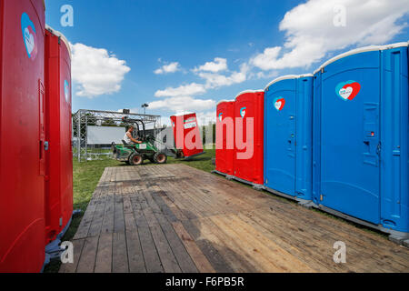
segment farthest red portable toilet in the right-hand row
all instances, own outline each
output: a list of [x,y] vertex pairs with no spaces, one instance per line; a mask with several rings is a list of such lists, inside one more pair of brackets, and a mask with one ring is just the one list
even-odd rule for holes
[[234,175],[234,100],[217,105],[215,173]]

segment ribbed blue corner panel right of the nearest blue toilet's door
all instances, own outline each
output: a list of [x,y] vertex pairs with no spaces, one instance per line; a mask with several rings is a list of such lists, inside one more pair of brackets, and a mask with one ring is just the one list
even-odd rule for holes
[[[381,58],[381,222],[409,238],[408,47],[386,45]],[[395,234],[396,235],[396,234]]]

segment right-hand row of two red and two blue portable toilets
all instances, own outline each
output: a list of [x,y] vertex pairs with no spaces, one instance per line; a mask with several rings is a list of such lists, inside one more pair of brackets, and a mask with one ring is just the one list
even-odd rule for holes
[[220,102],[216,172],[408,239],[408,107],[408,44],[355,49]]

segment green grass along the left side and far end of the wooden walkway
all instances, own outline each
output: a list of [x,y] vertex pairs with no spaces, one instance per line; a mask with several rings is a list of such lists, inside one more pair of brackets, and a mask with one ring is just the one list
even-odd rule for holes
[[[176,160],[173,157],[169,157],[167,164],[185,164],[188,166],[193,166],[197,169],[203,170],[205,172],[211,172],[214,170],[214,165],[212,164],[212,158],[215,157],[214,149],[205,149],[205,154],[202,156],[196,156],[191,161]],[[145,161],[143,166],[151,165],[149,161]],[[104,169],[107,166],[127,166],[125,163],[115,161],[114,159],[103,159],[100,161],[89,161],[79,163],[74,160],[74,209],[82,210],[81,215],[73,217],[70,228],[68,228],[63,241],[69,241],[75,236],[76,229],[78,228],[81,219],[84,216],[86,207],[93,196],[96,185],[99,182]],[[58,272],[61,263],[59,260],[51,262],[45,267],[45,273],[55,273]]]

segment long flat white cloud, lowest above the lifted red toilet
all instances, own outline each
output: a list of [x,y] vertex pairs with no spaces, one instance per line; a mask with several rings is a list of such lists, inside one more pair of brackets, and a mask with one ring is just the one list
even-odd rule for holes
[[152,110],[162,109],[174,112],[208,110],[214,107],[215,101],[212,99],[195,99],[191,96],[171,97],[149,104],[149,108]]

